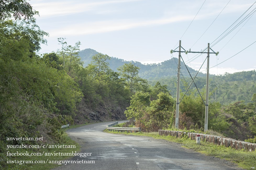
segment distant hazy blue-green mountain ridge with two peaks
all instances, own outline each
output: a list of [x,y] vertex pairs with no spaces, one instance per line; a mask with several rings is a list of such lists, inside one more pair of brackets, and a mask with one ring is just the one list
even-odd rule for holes
[[[91,63],[92,56],[94,56],[95,54],[98,54],[98,52],[90,48],[87,48],[79,52],[79,56],[81,57],[81,60],[84,62],[84,67]],[[108,62],[109,67],[114,71],[117,71],[117,68],[121,65],[124,65],[125,63],[133,63],[136,66],[140,67],[139,76],[147,80],[156,80],[158,78],[177,76],[177,58],[171,58],[158,64],[142,64],[137,61],[126,61],[116,57],[111,57],[111,59]],[[194,77],[197,71],[188,66],[187,68],[190,71],[190,73],[194,73],[192,74],[192,77]],[[181,70],[184,70],[182,72],[185,73],[183,76],[189,76],[187,74],[188,72],[186,66],[183,62],[181,62]],[[205,74],[199,72],[197,76],[202,77],[205,76]]]

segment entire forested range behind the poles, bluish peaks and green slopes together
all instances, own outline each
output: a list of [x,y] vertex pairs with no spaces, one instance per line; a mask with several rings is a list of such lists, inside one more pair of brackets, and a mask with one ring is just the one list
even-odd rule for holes
[[[97,54],[98,52],[92,50],[90,48],[79,51],[79,55],[81,60],[84,61],[84,66],[87,66],[92,61],[92,56]],[[170,91],[172,96],[176,95],[177,90],[177,58],[171,58],[170,60],[166,60],[164,62],[158,64],[147,64],[144,65],[140,62],[136,61],[125,61],[123,59],[110,57],[109,59],[109,67],[118,71],[117,68],[123,64],[132,63],[138,67],[140,67],[139,76],[148,80],[148,84],[154,86],[158,81],[161,84],[167,85],[167,89]],[[183,62],[182,62],[183,63]],[[181,91],[185,92],[190,85],[192,79],[186,74],[188,73],[184,64],[181,64]],[[188,67],[188,70],[192,74],[192,77],[196,74],[196,70]],[[234,74],[224,74],[224,75],[211,75],[210,76],[210,91],[211,96],[210,100],[215,100],[215,90],[216,90],[216,101],[221,104],[230,104],[236,101],[245,101],[246,103],[251,102],[252,94],[256,93],[255,81],[255,71],[243,71]],[[203,91],[206,85],[206,75],[199,73],[194,80],[196,86]],[[215,84],[216,82],[216,84]],[[190,89],[196,88],[194,83],[192,83]],[[239,90],[234,90],[239,89]],[[189,90],[189,91],[191,91]]]

